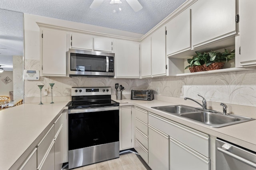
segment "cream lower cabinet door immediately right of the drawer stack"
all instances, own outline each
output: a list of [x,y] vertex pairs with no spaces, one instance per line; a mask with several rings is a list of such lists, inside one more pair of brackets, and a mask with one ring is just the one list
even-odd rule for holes
[[152,170],[169,170],[169,136],[151,125],[148,125],[148,165]]

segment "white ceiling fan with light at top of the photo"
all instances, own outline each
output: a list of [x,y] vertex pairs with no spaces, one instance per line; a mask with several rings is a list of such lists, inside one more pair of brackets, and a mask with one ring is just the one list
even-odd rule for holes
[[[90,8],[96,9],[102,4],[103,0],[94,0],[92,4],[90,5]],[[143,7],[141,6],[140,2],[138,0],[126,0],[126,2],[132,7],[134,12],[138,12]],[[111,0],[110,4],[120,4],[122,3],[120,0]]]

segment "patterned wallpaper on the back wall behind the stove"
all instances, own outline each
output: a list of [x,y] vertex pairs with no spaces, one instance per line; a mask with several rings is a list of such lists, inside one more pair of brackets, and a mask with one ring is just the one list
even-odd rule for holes
[[[25,60],[25,69],[40,70],[40,61]],[[115,78],[87,78],[87,77],[40,77],[39,81],[25,81],[25,97],[40,96],[37,85],[44,85],[50,91],[49,83],[55,83],[52,88],[53,96],[71,96],[71,87],[77,86],[110,86],[112,94],[116,94],[115,84],[124,86],[123,94],[130,94],[132,89],[147,89],[150,80],[140,79],[115,79]],[[43,89],[44,90],[44,89]],[[43,91],[42,90],[42,91]],[[43,94],[43,93],[42,93]],[[51,95],[51,94],[49,94]],[[48,95],[48,96],[49,96]]]

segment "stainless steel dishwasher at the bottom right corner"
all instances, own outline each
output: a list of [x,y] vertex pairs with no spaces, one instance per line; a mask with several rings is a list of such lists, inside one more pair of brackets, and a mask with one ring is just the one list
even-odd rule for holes
[[256,153],[216,139],[216,170],[256,170]]

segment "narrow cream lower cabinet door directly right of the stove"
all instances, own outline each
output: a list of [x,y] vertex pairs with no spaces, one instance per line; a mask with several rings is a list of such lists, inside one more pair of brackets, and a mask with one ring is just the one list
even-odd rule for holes
[[132,106],[121,107],[122,116],[122,147],[121,150],[132,148]]

